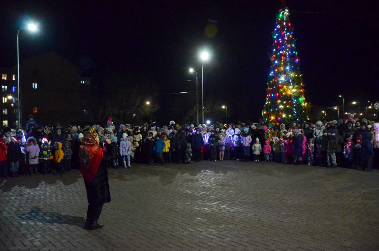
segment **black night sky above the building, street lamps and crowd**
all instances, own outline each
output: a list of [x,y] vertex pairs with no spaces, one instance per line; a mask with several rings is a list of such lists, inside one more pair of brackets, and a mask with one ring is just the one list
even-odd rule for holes
[[[333,106],[342,101],[340,94],[345,105],[379,101],[378,3],[287,1],[307,102]],[[280,8],[277,0],[2,1],[0,66],[17,64],[17,29],[36,20],[38,33],[20,34],[20,60],[54,51],[93,77],[149,76],[161,85],[160,96],[170,99],[167,93],[194,91],[193,82],[185,82],[194,80],[188,68],[201,76],[199,51],[207,48],[204,99],[222,100],[230,120],[255,122],[265,101],[271,32]],[[218,28],[213,38],[205,35],[209,24]],[[160,106],[165,119],[175,120],[161,98]]]

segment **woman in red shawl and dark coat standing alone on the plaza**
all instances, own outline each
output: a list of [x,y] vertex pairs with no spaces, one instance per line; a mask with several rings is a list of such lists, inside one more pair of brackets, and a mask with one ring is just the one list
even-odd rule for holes
[[99,145],[99,136],[94,129],[85,133],[80,146],[80,171],[87,191],[88,209],[85,229],[93,230],[103,227],[99,219],[103,204],[111,201],[108,183],[108,163],[114,155],[114,147],[109,139],[104,148]]

